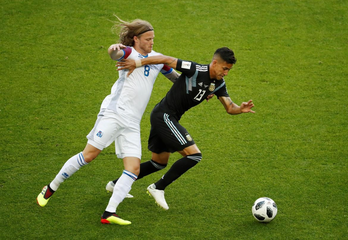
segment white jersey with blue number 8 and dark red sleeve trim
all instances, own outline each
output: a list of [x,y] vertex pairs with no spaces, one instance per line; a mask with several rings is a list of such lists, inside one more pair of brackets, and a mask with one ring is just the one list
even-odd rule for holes
[[[160,55],[160,53],[151,51],[147,56],[142,56],[133,47],[127,47],[122,50],[124,55],[120,59],[129,58],[135,60]],[[161,72],[166,75],[171,73],[173,69],[163,64],[144,65],[135,68],[127,77],[128,71],[128,69],[119,71],[119,78],[113,84],[111,94],[104,99],[101,109],[110,109],[140,122],[149,102],[158,73]]]

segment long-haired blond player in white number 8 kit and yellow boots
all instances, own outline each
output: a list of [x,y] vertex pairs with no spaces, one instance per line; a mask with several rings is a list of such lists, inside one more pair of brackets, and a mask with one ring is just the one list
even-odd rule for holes
[[[152,50],[154,32],[150,23],[140,19],[132,22],[121,19],[119,21],[120,23],[114,27],[120,27],[120,43],[113,44],[108,49],[113,60],[136,60],[159,55]],[[179,76],[172,68],[163,64],[142,66],[135,69],[129,77],[128,70],[119,71],[119,78],[112,86],[111,94],[103,100],[96,123],[87,135],[85,149],[66,161],[54,180],[42,189],[37,197],[41,207],[47,204],[65,179],[68,179],[80,167],[92,162],[114,141],[116,155],[123,159],[125,169],[113,188],[109,204],[101,217],[101,223],[121,225],[131,223],[121,219],[116,214],[116,208],[126,197],[139,175],[140,121],[159,72],[171,81]]]

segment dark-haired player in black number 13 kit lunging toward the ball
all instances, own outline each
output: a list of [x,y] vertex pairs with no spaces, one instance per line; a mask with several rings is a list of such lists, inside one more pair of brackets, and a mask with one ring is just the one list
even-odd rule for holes
[[[183,156],[160,180],[147,188],[157,204],[164,209],[169,208],[164,198],[164,189],[202,159],[202,154],[192,136],[179,123],[185,111],[215,94],[228,114],[255,113],[251,110],[254,107],[252,100],[242,102],[238,106],[232,102],[227,93],[223,77],[228,74],[236,61],[234,52],[223,47],[215,51],[210,64],[198,64],[163,55],[135,61],[125,60],[116,65],[119,67],[118,70],[129,69],[128,75],[136,67],[152,64],[166,64],[182,72],[166,96],[151,112],[148,149],[152,152],[152,158],[140,164],[138,176],[140,179],[165,168],[172,152],[177,151]],[[113,182],[116,181],[117,179]]]

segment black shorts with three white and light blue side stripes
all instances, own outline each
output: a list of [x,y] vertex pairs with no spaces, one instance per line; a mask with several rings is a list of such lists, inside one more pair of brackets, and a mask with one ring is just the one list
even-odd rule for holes
[[151,152],[176,152],[195,144],[187,130],[166,113],[151,112],[148,149]]

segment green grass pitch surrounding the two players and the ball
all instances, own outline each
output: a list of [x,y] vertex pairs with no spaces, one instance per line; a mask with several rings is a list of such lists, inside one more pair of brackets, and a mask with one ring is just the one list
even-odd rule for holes
[[[82,151],[118,73],[107,48],[113,13],[148,20],[154,50],[209,63],[234,50],[231,99],[256,114],[230,116],[216,98],[181,119],[202,161],[166,189],[169,210],[146,194],[165,170],[133,184],[102,225],[122,160],[113,144],[65,181],[45,208],[36,197]],[[347,1],[2,1],[0,6],[1,239],[347,239]],[[160,74],[143,115],[171,82]],[[173,154],[166,169],[180,156]],[[278,215],[258,223],[253,202]]]

